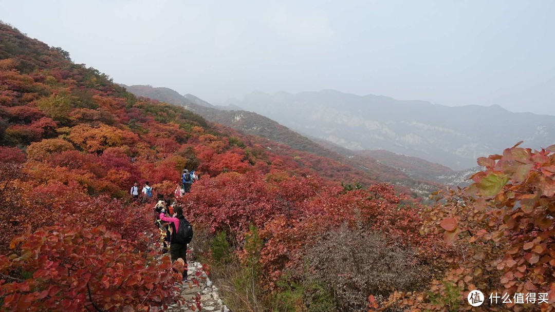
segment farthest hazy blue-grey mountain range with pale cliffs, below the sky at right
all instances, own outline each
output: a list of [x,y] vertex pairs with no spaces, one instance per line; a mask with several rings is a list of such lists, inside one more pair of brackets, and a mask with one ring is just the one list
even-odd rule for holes
[[387,150],[459,170],[523,140],[538,149],[555,142],[555,116],[501,106],[443,106],[334,90],[274,95],[255,91],[226,101],[268,116],[301,134],[351,150]]

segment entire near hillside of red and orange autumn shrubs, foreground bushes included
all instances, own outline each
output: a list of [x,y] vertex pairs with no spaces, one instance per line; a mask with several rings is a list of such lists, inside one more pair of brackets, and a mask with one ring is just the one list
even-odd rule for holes
[[172,198],[195,229],[190,256],[233,311],[456,311],[476,288],[546,299],[486,310],[554,308],[555,145],[481,157],[470,187],[423,206],[352,166],[137,98],[3,23],[0,116],[3,311],[201,309],[176,287],[183,264],[160,255],[154,202],[129,195],[149,181],[173,197],[183,168],[201,173]]

